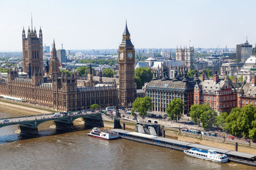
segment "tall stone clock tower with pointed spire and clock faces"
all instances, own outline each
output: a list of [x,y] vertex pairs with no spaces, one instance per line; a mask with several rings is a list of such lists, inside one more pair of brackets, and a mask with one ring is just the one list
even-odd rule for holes
[[135,100],[134,63],[135,50],[130,39],[130,33],[125,24],[122,43],[118,48],[119,91],[118,98],[121,106],[131,106]]

